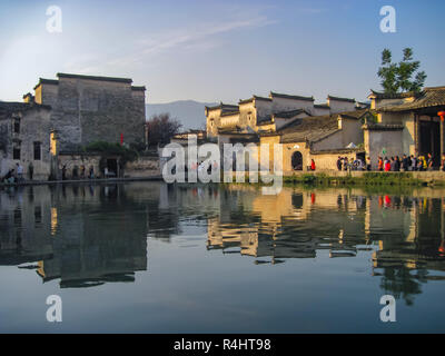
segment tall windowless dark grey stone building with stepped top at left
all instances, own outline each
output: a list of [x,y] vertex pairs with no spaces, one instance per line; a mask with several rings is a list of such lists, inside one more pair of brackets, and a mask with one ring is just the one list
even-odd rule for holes
[[145,87],[128,78],[58,73],[57,80],[40,78],[34,97],[26,100],[48,105],[51,129],[60,150],[77,150],[93,141],[144,142]]

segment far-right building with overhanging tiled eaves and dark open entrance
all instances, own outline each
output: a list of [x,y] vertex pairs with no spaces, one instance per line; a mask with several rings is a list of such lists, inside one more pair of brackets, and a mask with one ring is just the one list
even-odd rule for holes
[[365,149],[372,157],[432,154],[436,167],[445,154],[445,87],[425,88],[421,92],[368,96],[377,112],[374,122],[364,126]]

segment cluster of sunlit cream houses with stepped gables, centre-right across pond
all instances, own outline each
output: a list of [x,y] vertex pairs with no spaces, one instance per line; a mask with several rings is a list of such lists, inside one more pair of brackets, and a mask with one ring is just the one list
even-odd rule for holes
[[[207,136],[220,147],[267,144],[269,167],[274,145],[281,144],[283,160],[275,167],[285,175],[307,170],[312,159],[317,169],[337,169],[338,155],[350,159],[364,156],[362,126],[370,115],[368,106],[334,96],[328,96],[326,103],[314,101],[314,97],[270,92],[268,98],[253,96],[238,106],[206,107]],[[259,156],[258,150],[258,161]]]

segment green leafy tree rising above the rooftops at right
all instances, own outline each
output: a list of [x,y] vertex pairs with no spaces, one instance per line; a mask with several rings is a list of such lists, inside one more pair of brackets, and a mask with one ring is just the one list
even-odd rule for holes
[[[382,78],[380,85],[386,93],[399,91],[421,91],[425,79],[425,71],[417,71],[421,61],[413,60],[413,49],[403,50],[403,60],[393,63],[392,52],[385,48],[382,52],[382,67],[378,68],[378,77]],[[417,71],[417,73],[415,73]],[[414,79],[412,79],[414,76]]]

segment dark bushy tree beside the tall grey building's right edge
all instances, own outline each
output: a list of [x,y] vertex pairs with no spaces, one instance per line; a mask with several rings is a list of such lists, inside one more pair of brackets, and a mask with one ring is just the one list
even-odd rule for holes
[[169,112],[154,115],[147,121],[148,146],[165,145],[179,132],[182,125],[170,117]]

